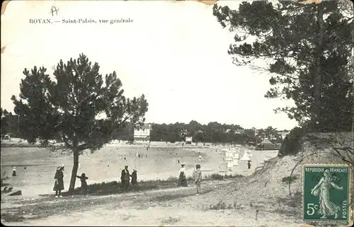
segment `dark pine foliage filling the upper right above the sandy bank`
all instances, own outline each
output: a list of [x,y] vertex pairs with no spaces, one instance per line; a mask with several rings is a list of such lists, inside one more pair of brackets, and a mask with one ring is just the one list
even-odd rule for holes
[[295,101],[278,111],[316,131],[350,131],[353,8],[344,7],[343,1],[253,1],[238,10],[215,4],[213,15],[235,33],[228,50],[234,64],[270,74],[265,97]]

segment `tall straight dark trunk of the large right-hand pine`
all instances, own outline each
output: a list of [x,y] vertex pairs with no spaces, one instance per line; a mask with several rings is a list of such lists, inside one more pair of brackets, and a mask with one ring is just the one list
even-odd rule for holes
[[[321,115],[321,60],[323,50],[323,37],[324,37],[324,6],[319,3],[317,5],[317,25],[319,26],[318,42],[314,60],[316,61],[316,70],[314,74],[314,101],[312,103],[312,116],[313,123],[319,122]],[[317,129],[317,128],[316,128]]]

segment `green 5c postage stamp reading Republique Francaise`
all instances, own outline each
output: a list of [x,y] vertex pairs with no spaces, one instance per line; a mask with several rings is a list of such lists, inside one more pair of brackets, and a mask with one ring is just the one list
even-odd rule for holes
[[304,221],[350,222],[350,168],[348,165],[303,166]]

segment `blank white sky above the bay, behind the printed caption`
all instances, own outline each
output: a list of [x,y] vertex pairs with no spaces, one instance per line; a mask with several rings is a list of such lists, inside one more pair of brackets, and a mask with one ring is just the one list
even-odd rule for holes
[[[235,8],[240,1],[219,4]],[[59,8],[52,16],[52,6]],[[18,12],[21,12],[19,16]],[[31,24],[30,18],[130,18],[132,23]],[[101,74],[116,71],[125,96],[144,94],[146,122],[196,120],[244,128],[297,126],[276,107],[292,102],[264,98],[267,74],[232,64],[233,34],[217,23],[212,6],[196,1],[11,1],[1,16],[1,107],[13,111],[23,69],[52,66],[84,53]]]

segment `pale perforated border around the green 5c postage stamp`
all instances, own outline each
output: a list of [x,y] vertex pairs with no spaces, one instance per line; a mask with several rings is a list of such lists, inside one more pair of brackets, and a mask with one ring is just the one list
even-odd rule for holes
[[309,223],[314,223],[314,222],[319,222],[319,223],[328,223],[328,224],[338,224],[338,223],[343,223],[344,221],[325,221],[325,220],[314,220],[314,221],[308,221],[304,220],[304,169],[305,167],[311,167],[311,166],[326,166],[326,167],[348,167],[349,173],[348,173],[348,223],[346,226],[353,226],[353,210],[351,208],[353,198],[352,198],[352,193],[351,193],[351,186],[352,186],[352,171],[353,171],[353,166],[348,165],[348,164],[338,164],[338,163],[303,163],[302,165],[302,170],[301,170],[301,190],[302,190],[302,199],[301,199],[301,213],[302,213],[302,221],[304,221],[305,224],[309,225]]

